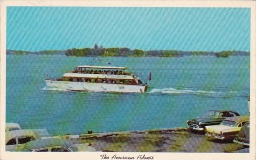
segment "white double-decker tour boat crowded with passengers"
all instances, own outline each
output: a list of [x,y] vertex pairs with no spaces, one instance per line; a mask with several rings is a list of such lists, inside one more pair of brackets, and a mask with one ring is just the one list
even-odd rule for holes
[[79,65],[61,78],[45,82],[49,87],[74,91],[144,93],[147,90],[147,83],[128,73],[125,67]]

